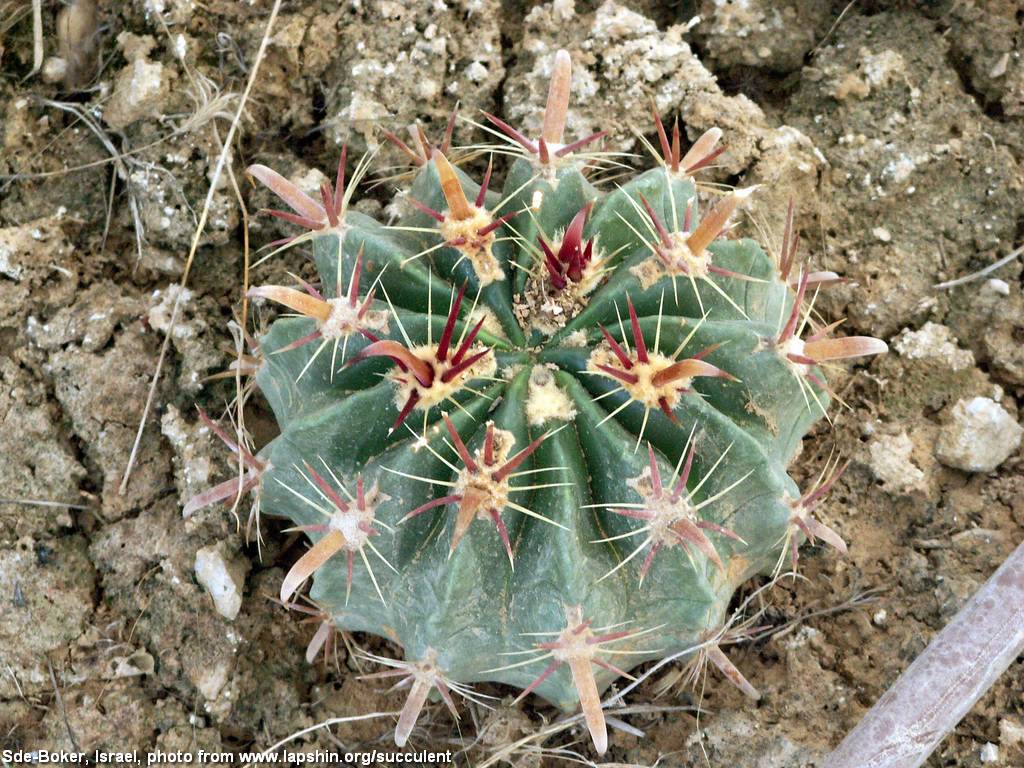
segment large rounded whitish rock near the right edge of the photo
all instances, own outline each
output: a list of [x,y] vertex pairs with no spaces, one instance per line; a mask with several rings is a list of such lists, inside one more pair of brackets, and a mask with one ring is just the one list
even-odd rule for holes
[[991,472],[1020,447],[1024,429],[995,400],[957,400],[951,416],[935,450],[938,460],[948,467]]

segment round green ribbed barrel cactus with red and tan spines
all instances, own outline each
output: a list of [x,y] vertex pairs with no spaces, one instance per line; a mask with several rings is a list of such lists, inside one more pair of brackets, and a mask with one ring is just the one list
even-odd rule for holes
[[450,162],[454,122],[438,147],[387,134],[415,167],[392,224],[350,205],[368,159],[319,200],[249,168],[319,284],[251,291],[292,312],[259,340],[281,434],[254,456],[220,432],[244,472],[190,508],[252,490],[308,536],[280,597],[311,578],[315,615],[401,647],[371,676],[409,688],[399,745],[428,696],[458,717],[494,681],[582,708],[603,753],[600,692],[701,643],[756,697],[714,642],[733,592],[805,538],[845,550],[813,516],[835,475],[802,494],[786,468],[822,364],[886,345],[814,319],[837,275],[796,268],[792,206],[777,253],[724,237],[752,189],[698,193],[720,131],[684,155],[655,114],[656,167],[595,185],[617,161],[563,141],[564,51],[552,72],[539,136],[479,126],[500,193]]

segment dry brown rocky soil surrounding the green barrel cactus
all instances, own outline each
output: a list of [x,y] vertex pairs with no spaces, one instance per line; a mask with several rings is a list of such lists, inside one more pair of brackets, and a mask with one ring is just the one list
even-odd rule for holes
[[[0,748],[260,750],[400,701],[356,680],[346,650],[380,641],[341,638],[331,664],[304,660],[314,625],[268,599],[296,538],[271,524],[261,547],[247,543],[248,510],[241,530],[222,508],[181,515],[231,471],[195,404],[221,414],[233,397],[233,380],[207,377],[234,356],[243,231],[268,202],[241,174],[238,194],[229,174],[213,191],[181,296],[177,284],[269,7],[45,2],[46,60],[32,73],[31,4],[0,2]],[[699,699],[670,671],[636,701],[705,711],[630,716],[643,735],[613,732],[612,760],[814,765],[1024,538],[1020,262],[935,287],[1020,243],[1022,18],[999,0],[284,4],[237,171],[263,162],[315,182],[341,141],[359,152],[378,126],[414,120],[436,133],[456,101],[528,126],[565,47],[571,133],[608,129],[638,150],[651,97],[691,139],[720,126],[715,180],[763,185],[744,226],[777,241],[797,197],[804,253],[847,279],[819,308],[890,341],[834,376],[849,408],[808,437],[796,470],[815,475],[834,451],[852,460],[822,511],[849,556],[805,550],[806,580],[767,596],[760,622],[778,631],[731,651],[764,699],[714,675]],[[474,141],[471,126],[456,139]],[[379,165],[396,162],[385,150]],[[379,211],[385,190],[360,207]],[[248,224],[254,246],[287,231]],[[273,260],[256,279],[302,267]],[[272,434],[258,398],[247,423],[257,441]],[[1024,765],[1021,690],[1018,663],[928,765]],[[553,717],[506,705],[454,727],[434,708],[416,741],[479,764]],[[386,746],[391,725],[295,743]],[[592,757],[563,732],[508,762],[570,743]]]

